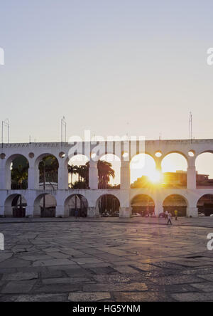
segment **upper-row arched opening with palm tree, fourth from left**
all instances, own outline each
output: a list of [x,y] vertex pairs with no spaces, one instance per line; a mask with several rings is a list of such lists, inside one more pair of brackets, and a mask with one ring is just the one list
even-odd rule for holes
[[115,154],[104,154],[98,163],[99,189],[119,189],[121,160]]

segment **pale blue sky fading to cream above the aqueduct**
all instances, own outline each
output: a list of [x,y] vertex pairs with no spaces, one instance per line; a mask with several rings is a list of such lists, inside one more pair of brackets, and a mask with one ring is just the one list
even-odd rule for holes
[[11,142],[212,138],[213,2],[0,0],[0,119]]

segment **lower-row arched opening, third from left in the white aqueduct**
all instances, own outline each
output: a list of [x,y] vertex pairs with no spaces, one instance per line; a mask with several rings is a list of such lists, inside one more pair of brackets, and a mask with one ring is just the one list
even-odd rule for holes
[[87,217],[88,202],[81,194],[72,194],[65,201],[65,216]]

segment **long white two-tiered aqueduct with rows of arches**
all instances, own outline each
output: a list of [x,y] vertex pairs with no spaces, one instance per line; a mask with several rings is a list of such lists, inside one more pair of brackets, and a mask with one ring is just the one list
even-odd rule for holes
[[[52,194],[55,197],[55,216],[68,216],[66,211],[67,200],[70,196],[78,194],[87,201],[87,216],[99,216],[97,201],[104,194],[113,194],[119,200],[119,216],[131,216],[131,201],[139,194],[150,196],[155,204],[155,215],[163,212],[163,203],[168,196],[179,195],[186,201],[187,216],[197,216],[197,202],[206,194],[213,194],[213,186],[209,188],[196,187],[195,159],[204,152],[213,152],[213,139],[185,140],[146,140],[145,144],[135,141],[133,146],[136,152],[132,152],[130,145],[121,142],[119,153],[121,159],[121,185],[120,189],[98,189],[97,162],[91,159],[97,144],[89,143],[90,152],[85,152],[84,145],[73,143],[17,143],[4,144],[0,153],[0,216],[11,216],[11,200],[14,196],[23,196],[26,201],[26,216],[38,216],[38,199],[44,194]],[[78,146],[80,145],[80,146]],[[104,149],[104,154],[117,154],[117,143],[111,142],[111,149],[107,142],[99,142]],[[187,186],[185,188],[148,187],[131,189],[130,186],[130,161],[133,154],[140,153],[140,148],[155,159],[156,169],[160,170],[161,162],[170,153],[179,153],[187,161]],[[69,189],[67,164],[72,155],[78,154],[78,148],[82,148],[81,154],[86,154],[89,164],[89,189]],[[70,154],[70,149],[71,154]],[[160,153],[160,154],[159,154]],[[52,154],[58,159],[58,189],[43,190],[39,186],[38,164],[42,157]],[[17,155],[22,155],[28,160],[28,187],[25,190],[11,189],[11,162]],[[127,157],[128,159],[124,159]]]

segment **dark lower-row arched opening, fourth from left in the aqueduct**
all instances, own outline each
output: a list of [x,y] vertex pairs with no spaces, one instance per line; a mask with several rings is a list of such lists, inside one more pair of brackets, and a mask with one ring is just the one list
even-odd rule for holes
[[97,200],[96,207],[102,217],[118,217],[120,201],[113,194],[104,194]]

